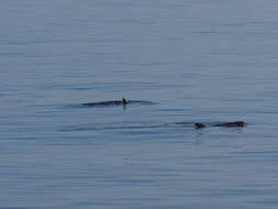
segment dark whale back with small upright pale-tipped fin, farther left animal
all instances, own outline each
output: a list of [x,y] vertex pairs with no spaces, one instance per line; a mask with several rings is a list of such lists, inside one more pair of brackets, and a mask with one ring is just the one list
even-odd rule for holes
[[122,98],[122,100],[114,100],[114,101],[100,101],[100,102],[88,102],[88,103],[81,103],[81,106],[86,107],[105,107],[105,106],[127,106],[127,105],[152,105],[151,101],[142,101],[142,100],[129,100],[126,98]]

